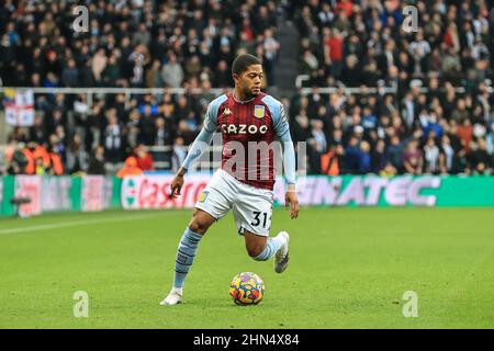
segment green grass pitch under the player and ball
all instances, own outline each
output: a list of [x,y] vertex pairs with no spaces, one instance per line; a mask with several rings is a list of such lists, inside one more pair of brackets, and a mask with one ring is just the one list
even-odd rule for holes
[[[0,219],[0,328],[493,328],[493,208],[274,211],[291,234],[277,274],[256,262],[233,216],[201,241],[184,304],[164,307],[191,211],[49,214]],[[254,271],[257,306],[236,306],[231,279]],[[89,295],[76,318],[74,293]],[[405,318],[403,294],[418,297]]]

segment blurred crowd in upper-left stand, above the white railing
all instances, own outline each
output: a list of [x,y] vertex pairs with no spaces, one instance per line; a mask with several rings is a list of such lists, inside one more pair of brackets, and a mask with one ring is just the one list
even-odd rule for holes
[[[79,2],[88,32],[72,29]],[[256,0],[5,0],[0,77],[8,87],[233,87],[233,58],[250,53],[270,79],[276,11]]]

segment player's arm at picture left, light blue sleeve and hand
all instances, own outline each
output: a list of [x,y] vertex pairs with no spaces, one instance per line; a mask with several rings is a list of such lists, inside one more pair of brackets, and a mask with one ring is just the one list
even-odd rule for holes
[[192,146],[190,147],[182,166],[178,170],[177,176],[171,181],[170,196],[175,197],[180,195],[180,191],[183,185],[183,177],[186,176],[190,167],[193,165],[193,162],[198,160],[207,150],[211,140],[213,140],[216,127],[217,127],[216,116],[214,115],[214,111],[213,109],[211,109],[210,104],[210,106],[207,106],[207,112],[204,118],[204,124],[202,126],[201,133],[199,133],[199,135],[195,137],[195,140],[192,143]]

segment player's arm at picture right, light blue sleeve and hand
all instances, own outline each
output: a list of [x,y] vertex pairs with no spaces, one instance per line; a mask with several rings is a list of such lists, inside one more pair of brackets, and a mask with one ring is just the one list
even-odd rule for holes
[[280,106],[279,121],[274,124],[274,131],[278,139],[283,146],[283,169],[284,178],[287,180],[287,193],[284,195],[285,208],[290,204],[290,217],[296,218],[299,216],[299,199],[295,189],[295,149],[293,148],[292,137],[290,135],[290,126],[287,120],[287,114],[283,106]]

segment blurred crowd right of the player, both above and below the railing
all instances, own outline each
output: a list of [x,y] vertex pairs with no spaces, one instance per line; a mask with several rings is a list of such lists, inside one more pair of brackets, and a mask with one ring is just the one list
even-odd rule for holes
[[493,172],[493,1],[308,0],[291,13],[307,87],[378,88],[295,97],[313,172]]

